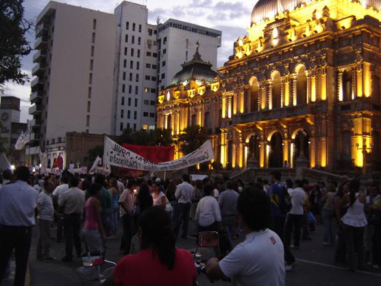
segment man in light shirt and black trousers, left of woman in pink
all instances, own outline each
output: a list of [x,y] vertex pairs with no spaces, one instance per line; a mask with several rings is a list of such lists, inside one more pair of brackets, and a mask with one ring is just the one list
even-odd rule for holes
[[79,178],[73,177],[69,182],[69,190],[60,195],[58,208],[64,213],[64,230],[66,242],[66,256],[62,258],[64,262],[73,261],[73,243],[77,251],[77,257],[82,254],[81,239],[81,216],[84,211],[85,192],[78,189]]

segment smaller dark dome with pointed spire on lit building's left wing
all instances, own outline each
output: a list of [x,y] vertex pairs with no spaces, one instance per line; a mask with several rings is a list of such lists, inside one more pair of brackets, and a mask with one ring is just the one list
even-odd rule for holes
[[210,62],[204,62],[204,60],[201,59],[199,44],[197,42],[196,53],[193,59],[182,64],[182,71],[179,71],[173,76],[171,84],[182,84],[190,80],[197,80],[199,82],[205,80],[208,83],[214,82],[214,78],[219,74],[211,68],[212,64],[210,64]]

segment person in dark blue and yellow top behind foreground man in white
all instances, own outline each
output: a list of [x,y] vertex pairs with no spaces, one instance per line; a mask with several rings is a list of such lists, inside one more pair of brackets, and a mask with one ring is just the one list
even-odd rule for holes
[[273,230],[282,240],[284,248],[284,270],[290,271],[295,263],[295,257],[291,253],[290,245],[284,239],[284,223],[286,221],[286,214],[291,210],[291,198],[288,195],[287,189],[280,182],[282,175],[280,171],[273,171],[271,174],[270,199],[271,199],[271,213],[272,213],[272,226]]

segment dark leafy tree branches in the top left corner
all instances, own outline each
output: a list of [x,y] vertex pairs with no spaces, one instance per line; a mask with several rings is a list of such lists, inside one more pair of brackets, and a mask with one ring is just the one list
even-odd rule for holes
[[23,0],[0,1],[0,91],[11,80],[24,84],[28,77],[21,71],[21,57],[27,56],[31,47],[25,33],[32,27],[23,19]]

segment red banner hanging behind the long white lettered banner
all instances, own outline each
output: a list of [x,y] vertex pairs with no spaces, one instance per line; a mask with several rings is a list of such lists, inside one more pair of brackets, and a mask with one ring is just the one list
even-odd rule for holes
[[123,147],[155,163],[173,160],[175,148],[173,146],[143,146],[123,143]]

